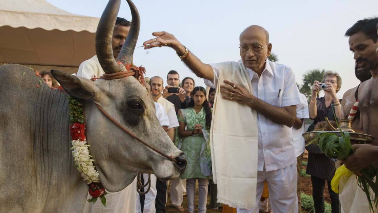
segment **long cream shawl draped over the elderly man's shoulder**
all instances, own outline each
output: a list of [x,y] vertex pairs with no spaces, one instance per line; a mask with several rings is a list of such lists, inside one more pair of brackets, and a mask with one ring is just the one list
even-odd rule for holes
[[[241,60],[240,60],[240,63]],[[220,85],[229,80],[252,94],[248,70],[237,62],[218,64],[210,144],[213,180],[218,202],[234,208],[256,207],[257,126],[256,110],[222,99]]]

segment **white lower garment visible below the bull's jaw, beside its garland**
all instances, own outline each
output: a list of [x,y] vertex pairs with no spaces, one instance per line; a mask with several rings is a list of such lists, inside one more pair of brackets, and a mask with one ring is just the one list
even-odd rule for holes
[[[85,203],[83,213],[135,213],[136,203],[136,179],[124,190],[119,192],[108,192],[105,195],[106,207],[102,205],[101,200],[97,199],[95,204]],[[88,193],[87,200],[92,196]]]

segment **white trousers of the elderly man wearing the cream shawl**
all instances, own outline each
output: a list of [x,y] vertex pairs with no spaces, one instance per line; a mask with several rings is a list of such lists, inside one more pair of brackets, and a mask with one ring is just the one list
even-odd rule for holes
[[[256,200],[261,198],[264,180],[274,213],[298,213],[297,162],[283,169],[267,172],[264,166],[263,171],[257,171]],[[238,208],[237,213],[259,213],[259,205],[253,209]]]

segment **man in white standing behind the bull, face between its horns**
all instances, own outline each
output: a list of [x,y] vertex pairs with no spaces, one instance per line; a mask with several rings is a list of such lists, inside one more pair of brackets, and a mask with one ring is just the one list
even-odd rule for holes
[[[127,34],[129,34],[131,22],[126,19],[117,17],[113,37],[112,37],[112,49],[113,56],[117,60],[119,52],[121,51],[122,45],[125,42]],[[80,64],[79,70],[77,71],[77,76],[85,77],[88,79],[99,78],[104,74],[97,55],[93,56],[87,61],[84,61]],[[111,193],[107,191],[106,195],[106,206],[104,207],[101,202],[85,203],[83,213],[113,213],[113,212],[122,212],[122,213],[135,213],[136,207],[136,182],[134,180],[129,186],[124,190]],[[88,199],[91,196],[88,194]]]

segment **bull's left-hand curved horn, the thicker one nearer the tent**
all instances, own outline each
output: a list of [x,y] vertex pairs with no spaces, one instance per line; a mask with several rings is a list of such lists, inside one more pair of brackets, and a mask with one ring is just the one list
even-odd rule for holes
[[112,50],[112,37],[119,5],[121,5],[121,0],[109,0],[96,31],[96,55],[107,74],[125,71],[124,66],[116,63]]

